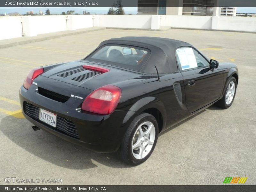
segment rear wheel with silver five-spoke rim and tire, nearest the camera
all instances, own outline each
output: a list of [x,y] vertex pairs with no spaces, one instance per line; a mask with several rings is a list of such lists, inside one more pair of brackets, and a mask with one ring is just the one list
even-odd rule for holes
[[[151,128],[149,129],[149,127]],[[156,118],[148,113],[142,113],[135,117],[128,127],[118,150],[118,155],[127,164],[141,164],[152,154],[157,137],[158,124]]]

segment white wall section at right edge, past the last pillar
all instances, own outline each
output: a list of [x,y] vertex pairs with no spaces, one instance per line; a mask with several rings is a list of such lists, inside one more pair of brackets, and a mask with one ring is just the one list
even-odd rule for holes
[[256,32],[256,18],[222,16],[218,18],[218,29]]

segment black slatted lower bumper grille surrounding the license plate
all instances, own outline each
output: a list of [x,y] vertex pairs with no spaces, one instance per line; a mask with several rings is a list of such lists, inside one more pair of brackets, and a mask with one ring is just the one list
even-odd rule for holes
[[54,128],[51,125],[45,124],[44,122],[40,121],[39,120],[39,108],[26,102],[26,101],[24,102],[24,112],[26,115],[28,115],[32,119],[36,120],[37,122],[44,124],[48,128],[51,128],[58,132],[61,132],[65,135],[74,137],[76,139],[80,139],[78,132],[76,131],[75,124],[71,120],[69,120],[65,117],[61,117],[61,116],[57,115],[57,124],[56,124],[56,127]]

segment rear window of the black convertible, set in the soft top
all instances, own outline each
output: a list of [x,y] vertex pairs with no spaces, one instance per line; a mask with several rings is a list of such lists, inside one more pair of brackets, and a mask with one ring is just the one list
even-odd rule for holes
[[149,56],[149,50],[127,45],[105,45],[92,53],[86,60],[95,60],[132,70],[142,68]]

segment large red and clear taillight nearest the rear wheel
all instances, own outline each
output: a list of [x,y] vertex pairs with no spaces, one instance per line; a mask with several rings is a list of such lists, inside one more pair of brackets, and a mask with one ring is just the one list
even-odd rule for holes
[[82,103],[81,109],[101,115],[112,113],[121,97],[121,89],[114,85],[105,85],[93,91]]

